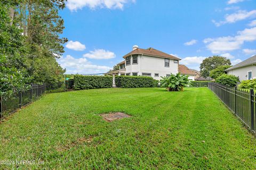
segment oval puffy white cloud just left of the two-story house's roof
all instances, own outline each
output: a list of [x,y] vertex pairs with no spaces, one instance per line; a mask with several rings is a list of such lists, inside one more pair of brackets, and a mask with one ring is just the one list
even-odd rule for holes
[[101,59],[115,58],[116,55],[115,53],[109,52],[108,50],[105,50],[105,49],[95,49],[94,51],[90,51],[90,53],[84,54],[83,57],[101,60]]

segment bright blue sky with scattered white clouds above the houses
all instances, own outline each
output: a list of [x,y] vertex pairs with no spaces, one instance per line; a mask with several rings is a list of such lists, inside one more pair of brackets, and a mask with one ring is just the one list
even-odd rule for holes
[[69,41],[58,62],[66,73],[104,73],[133,45],[198,70],[212,55],[236,64],[256,54],[254,0],[68,0],[60,15]]

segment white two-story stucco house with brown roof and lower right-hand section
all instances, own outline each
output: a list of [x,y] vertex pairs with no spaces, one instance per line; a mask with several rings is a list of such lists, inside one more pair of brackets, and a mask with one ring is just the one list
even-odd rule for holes
[[195,73],[185,65],[179,65],[181,60],[154,48],[142,49],[133,46],[133,50],[123,56],[124,61],[118,63],[120,70],[108,73],[116,75],[142,75],[150,76],[156,80],[161,77],[177,74],[189,75],[190,80],[195,79]]

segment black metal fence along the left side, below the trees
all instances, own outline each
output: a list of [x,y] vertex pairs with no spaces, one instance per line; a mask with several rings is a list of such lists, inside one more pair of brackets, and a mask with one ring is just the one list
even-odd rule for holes
[[37,100],[49,88],[46,84],[32,84],[28,90],[14,92],[12,95],[0,96],[0,121]]

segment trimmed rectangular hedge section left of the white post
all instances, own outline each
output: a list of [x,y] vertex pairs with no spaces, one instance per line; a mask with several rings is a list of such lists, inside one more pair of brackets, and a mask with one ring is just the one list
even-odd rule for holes
[[74,89],[100,89],[111,88],[113,77],[99,76],[99,75],[75,75],[74,76]]

